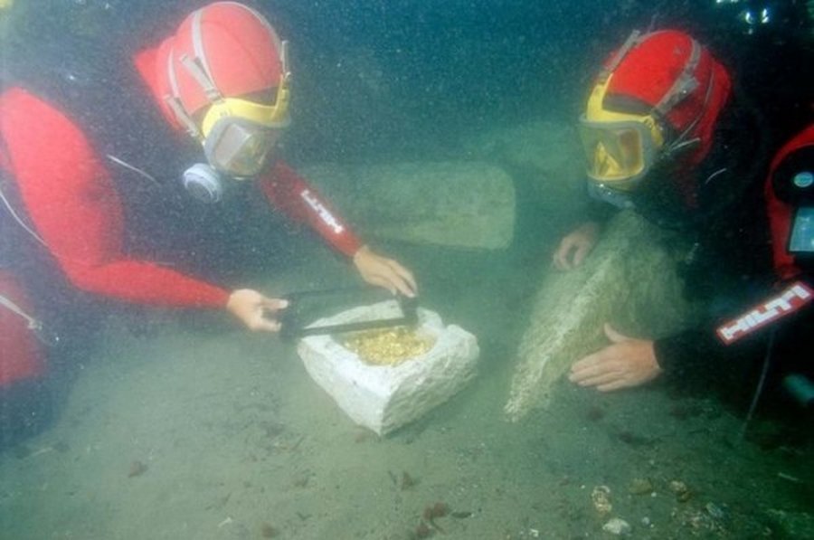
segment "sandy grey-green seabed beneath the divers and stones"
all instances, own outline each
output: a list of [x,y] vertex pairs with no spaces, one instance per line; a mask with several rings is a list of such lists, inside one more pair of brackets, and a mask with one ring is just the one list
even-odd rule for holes
[[[478,336],[480,374],[450,403],[379,438],[275,336],[111,317],[52,427],[0,454],[0,537],[601,538],[612,517],[636,538],[814,535],[811,449],[738,441],[742,420],[711,399],[563,382],[549,410],[506,422],[544,257],[393,250],[424,304]],[[268,289],[348,271],[320,249],[303,261]]]

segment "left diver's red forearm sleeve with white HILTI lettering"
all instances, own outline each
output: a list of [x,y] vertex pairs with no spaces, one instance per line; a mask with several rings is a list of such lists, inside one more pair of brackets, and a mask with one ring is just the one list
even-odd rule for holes
[[337,251],[353,257],[362,247],[362,242],[317,190],[282,161],[260,180],[260,189],[271,205],[295,221],[308,223]]

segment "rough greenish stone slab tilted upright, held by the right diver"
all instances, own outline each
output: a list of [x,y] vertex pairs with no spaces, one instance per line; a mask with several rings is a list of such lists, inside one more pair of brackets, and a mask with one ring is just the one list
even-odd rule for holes
[[545,407],[573,362],[608,345],[603,323],[643,338],[687,326],[696,307],[683,297],[664,234],[635,213],[620,213],[581,268],[542,279],[517,352],[510,420]]

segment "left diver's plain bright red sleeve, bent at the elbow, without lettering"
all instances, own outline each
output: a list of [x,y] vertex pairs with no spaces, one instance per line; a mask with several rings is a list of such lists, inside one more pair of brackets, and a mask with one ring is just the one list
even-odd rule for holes
[[123,252],[124,222],[109,171],[70,119],[22,89],[0,95],[4,166],[24,216],[76,287],[130,302],[222,308],[229,293]]

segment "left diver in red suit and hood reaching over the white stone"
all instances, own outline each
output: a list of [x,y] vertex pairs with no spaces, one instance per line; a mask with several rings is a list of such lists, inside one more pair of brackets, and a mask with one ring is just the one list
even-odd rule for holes
[[[274,155],[289,125],[289,71],[286,44],[262,15],[235,2],[206,5],[163,43],[138,52],[133,63],[144,87],[137,91],[151,103],[147,108],[160,109],[175,131],[168,139],[175,140],[156,143],[152,138],[159,135],[139,132],[141,125],[123,125],[121,138],[145,139],[142,146],[155,144],[160,153],[178,145],[185,129],[200,143],[197,154],[203,146],[207,158],[184,173],[190,193],[216,201],[224,186],[256,182],[272,207],[308,223],[354,262],[365,281],[415,295],[410,270],[360,242]],[[123,96],[126,90],[134,91],[122,89]],[[113,116],[120,112],[127,124],[138,104],[122,100]],[[224,289],[130,254],[128,211],[139,209],[128,207],[117,176],[124,167],[152,178],[150,167],[108,154],[93,122],[83,125],[77,120],[82,114],[61,105],[59,97],[41,96],[24,83],[6,85],[0,93],[0,403],[47,371],[43,346],[29,328],[37,319],[26,298],[27,271],[19,270],[25,268],[18,264],[24,252],[14,239],[21,237],[46,251],[82,291],[151,306],[226,308],[252,330],[279,330],[276,313],[286,307],[284,300],[253,289]],[[133,132],[137,137],[130,137]],[[168,164],[159,165],[162,170]]]

